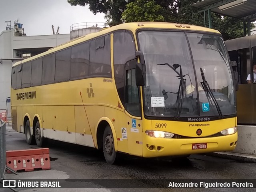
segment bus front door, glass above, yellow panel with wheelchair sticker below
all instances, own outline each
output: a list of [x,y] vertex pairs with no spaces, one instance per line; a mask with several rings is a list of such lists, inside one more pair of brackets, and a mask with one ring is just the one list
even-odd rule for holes
[[135,66],[137,59],[125,66],[125,113],[129,154],[142,156],[142,112],[140,92],[136,86]]

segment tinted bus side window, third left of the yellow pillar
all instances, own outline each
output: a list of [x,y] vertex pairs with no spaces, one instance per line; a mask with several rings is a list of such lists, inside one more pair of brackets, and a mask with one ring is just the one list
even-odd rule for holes
[[55,82],[70,80],[71,48],[56,53]]

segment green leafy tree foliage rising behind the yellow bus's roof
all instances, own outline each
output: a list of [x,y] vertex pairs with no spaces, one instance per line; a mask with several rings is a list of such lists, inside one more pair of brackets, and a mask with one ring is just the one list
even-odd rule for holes
[[[68,0],[72,6],[89,5],[94,13],[104,13],[107,24],[122,22],[164,21],[204,26],[204,13],[191,5],[197,0]],[[237,19],[211,13],[212,28],[220,31],[224,40],[242,37],[243,23]],[[208,20],[206,18],[206,20]],[[252,24],[253,26],[253,24]],[[208,27],[208,25],[206,25]]]

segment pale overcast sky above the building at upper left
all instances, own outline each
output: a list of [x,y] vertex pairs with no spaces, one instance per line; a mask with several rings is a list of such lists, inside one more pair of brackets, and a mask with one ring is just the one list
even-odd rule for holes
[[19,18],[26,35],[52,34],[58,26],[59,33],[70,33],[70,26],[81,22],[106,22],[104,14],[94,15],[88,6],[71,6],[67,0],[0,0],[0,33],[4,22]]

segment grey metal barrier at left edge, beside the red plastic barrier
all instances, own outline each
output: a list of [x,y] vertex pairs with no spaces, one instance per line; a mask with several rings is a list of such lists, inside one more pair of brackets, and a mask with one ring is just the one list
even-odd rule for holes
[[[0,120],[0,184],[4,184],[4,174],[6,169],[10,170],[14,174],[18,174],[16,171],[6,166],[6,123]],[[18,192],[14,188],[9,187],[14,192]]]

